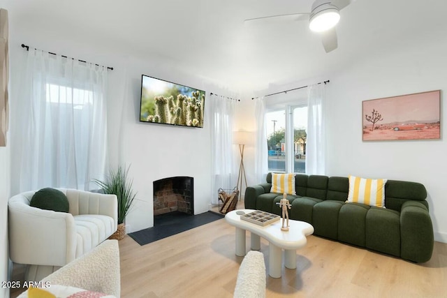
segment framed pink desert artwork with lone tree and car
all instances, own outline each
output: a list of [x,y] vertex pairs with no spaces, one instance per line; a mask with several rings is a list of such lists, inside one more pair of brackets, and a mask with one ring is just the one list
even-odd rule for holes
[[441,90],[362,102],[363,140],[441,138]]

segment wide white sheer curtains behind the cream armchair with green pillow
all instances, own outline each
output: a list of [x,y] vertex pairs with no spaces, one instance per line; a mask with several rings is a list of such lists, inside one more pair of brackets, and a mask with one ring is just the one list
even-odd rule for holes
[[103,178],[106,90],[107,68],[29,48],[11,102],[11,193]]

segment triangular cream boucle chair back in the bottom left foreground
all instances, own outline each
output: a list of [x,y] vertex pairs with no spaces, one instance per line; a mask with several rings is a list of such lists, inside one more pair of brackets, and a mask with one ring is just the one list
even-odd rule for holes
[[[51,285],[67,285],[119,297],[119,247],[117,240],[105,240],[89,253],[43,278]],[[26,298],[23,292],[18,298]]]

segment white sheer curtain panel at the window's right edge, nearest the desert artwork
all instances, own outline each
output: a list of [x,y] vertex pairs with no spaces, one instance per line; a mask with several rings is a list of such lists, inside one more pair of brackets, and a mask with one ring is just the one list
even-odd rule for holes
[[306,174],[325,174],[325,84],[307,87]]

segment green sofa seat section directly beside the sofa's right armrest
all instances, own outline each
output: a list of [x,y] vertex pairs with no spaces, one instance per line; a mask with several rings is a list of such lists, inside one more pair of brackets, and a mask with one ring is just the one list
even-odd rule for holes
[[366,215],[366,247],[400,257],[400,213],[371,207]]

